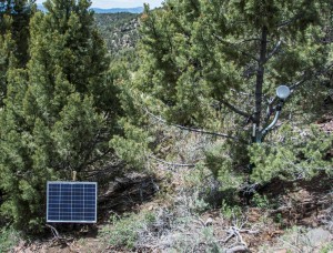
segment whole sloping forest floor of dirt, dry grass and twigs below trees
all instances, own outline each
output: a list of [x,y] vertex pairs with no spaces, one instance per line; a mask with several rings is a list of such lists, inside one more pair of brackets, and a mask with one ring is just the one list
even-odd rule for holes
[[[332,133],[332,119],[316,123]],[[206,141],[163,134],[161,150],[174,160],[194,161]],[[250,203],[233,204],[228,200],[238,194],[220,192],[211,172],[170,164],[153,172],[129,173],[100,189],[97,224],[52,224],[59,235],[48,229],[44,237],[18,240],[11,252],[333,253],[332,178],[273,180]]]

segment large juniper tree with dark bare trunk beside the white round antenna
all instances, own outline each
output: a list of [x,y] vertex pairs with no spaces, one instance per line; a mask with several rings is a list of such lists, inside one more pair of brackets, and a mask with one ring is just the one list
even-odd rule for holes
[[293,107],[285,111],[297,122],[300,112],[326,95],[322,75],[332,71],[332,42],[323,42],[323,28],[332,26],[332,8],[325,0],[168,0],[160,10],[145,7],[142,65],[132,89],[169,122],[224,132],[226,141],[208,153],[206,164],[225,185],[233,175],[239,180],[232,186],[240,186],[252,132],[258,139],[276,111],[275,88],[292,88]]

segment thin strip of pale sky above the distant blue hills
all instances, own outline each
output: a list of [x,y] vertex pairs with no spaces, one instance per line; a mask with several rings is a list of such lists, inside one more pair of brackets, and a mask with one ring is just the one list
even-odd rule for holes
[[[37,3],[42,3],[44,0],[37,0]],[[150,8],[160,7],[163,0],[92,0],[93,8],[133,8],[143,7],[143,3],[149,3]]]

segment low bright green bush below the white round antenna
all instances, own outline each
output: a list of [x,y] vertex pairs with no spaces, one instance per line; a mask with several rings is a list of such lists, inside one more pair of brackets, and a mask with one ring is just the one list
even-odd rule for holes
[[252,180],[258,183],[270,182],[274,178],[285,181],[311,180],[324,172],[332,176],[333,135],[312,125],[310,129],[296,129],[284,125],[279,139],[252,145],[251,163],[254,165]]

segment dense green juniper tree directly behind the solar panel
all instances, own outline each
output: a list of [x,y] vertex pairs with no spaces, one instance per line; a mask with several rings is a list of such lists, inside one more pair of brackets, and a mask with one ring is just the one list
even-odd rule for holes
[[107,164],[119,113],[90,1],[44,6],[31,20],[27,70],[9,71],[1,112],[1,210],[29,232],[44,222],[48,180],[71,180],[72,171],[85,179]]

